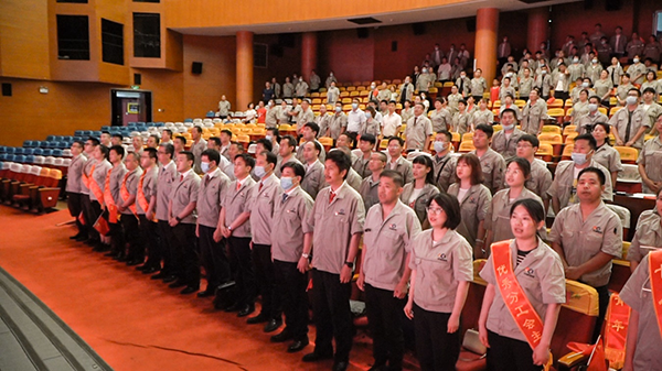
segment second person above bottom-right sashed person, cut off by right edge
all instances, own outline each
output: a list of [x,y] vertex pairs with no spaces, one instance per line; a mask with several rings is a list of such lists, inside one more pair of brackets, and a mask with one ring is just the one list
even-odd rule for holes
[[637,159],[644,193],[656,194],[662,189],[662,113],[655,119],[658,135],[643,145]]

